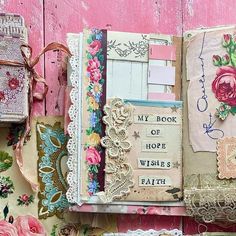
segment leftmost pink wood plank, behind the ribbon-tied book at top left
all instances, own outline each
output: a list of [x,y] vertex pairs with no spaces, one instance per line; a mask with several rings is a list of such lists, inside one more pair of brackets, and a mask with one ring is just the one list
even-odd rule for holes
[[[0,12],[17,13],[24,17],[29,30],[29,44],[33,48],[34,56],[43,48],[43,1],[40,0],[3,0],[0,1]],[[44,58],[36,69],[43,74]],[[39,88],[40,90],[40,88]],[[34,105],[34,115],[44,115],[44,103]]]

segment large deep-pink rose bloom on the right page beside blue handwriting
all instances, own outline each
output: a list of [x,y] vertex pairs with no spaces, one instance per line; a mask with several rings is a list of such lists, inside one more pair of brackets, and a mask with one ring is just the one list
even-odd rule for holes
[[231,66],[220,67],[212,82],[212,91],[218,101],[236,106],[236,69]]

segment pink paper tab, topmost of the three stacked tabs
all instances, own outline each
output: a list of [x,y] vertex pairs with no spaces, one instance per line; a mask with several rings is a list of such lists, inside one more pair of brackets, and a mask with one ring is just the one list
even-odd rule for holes
[[175,61],[176,46],[149,45],[149,59]]

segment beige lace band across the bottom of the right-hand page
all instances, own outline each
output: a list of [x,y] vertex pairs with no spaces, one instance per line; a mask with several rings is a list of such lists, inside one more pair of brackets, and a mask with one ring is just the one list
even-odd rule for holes
[[236,181],[219,180],[217,174],[185,178],[186,213],[206,223],[236,221]]

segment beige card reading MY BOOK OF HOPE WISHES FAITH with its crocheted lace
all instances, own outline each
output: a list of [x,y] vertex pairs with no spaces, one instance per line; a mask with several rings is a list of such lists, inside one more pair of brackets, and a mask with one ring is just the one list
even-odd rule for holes
[[[100,198],[180,200],[182,102],[113,99],[109,104],[105,106],[103,120],[107,126],[102,139],[106,148],[106,185],[105,192],[99,193]],[[133,111],[128,113],[132,107]],[[122,165],[118,165],[121,161]],[[125,191],[127,197],[118,190]]]

